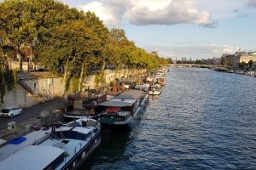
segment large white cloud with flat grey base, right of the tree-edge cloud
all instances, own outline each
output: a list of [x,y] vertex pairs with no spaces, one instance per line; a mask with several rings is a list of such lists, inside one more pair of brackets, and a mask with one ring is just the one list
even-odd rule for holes
[[155,8],[150,8],[153,3],[143,3],[141,6],[134,3],[134,7],[127,11],[126,17],[132,24],[138,26],[198,24],[214,27],[217,24],[212,21],[211,14],[195,9],[195,0],[163,0],[160,2]]

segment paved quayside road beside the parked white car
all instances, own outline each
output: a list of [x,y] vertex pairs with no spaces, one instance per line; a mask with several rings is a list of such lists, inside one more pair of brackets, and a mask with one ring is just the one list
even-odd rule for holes
[[7,128],[8,122],[25,122],[28,119],[31,119],[32,117],[39,116],[41,111],[49,111],[52,109],[56,109],[57,103],[60,101],[64,101],[64,99],[53,99],[43,104],[34,105],[32,107],[26,108],[21,115],[14,116],[13,118],[0,117],[0,130]]

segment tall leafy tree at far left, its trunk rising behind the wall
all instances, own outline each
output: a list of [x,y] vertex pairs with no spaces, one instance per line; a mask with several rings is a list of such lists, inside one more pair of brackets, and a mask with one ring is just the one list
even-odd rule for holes
[[9,0],[0,3],[0,29],[5,31],[9,44],[15,48],[22,71],[22,50],[37,37],[36,22],[32,20],[31,4],[28,0]]

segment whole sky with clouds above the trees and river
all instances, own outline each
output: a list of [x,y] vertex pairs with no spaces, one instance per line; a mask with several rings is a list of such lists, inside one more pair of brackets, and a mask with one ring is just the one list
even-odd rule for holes
[[163,57],[256,51],[256,0],[60,0],[96,13],[109,28]]

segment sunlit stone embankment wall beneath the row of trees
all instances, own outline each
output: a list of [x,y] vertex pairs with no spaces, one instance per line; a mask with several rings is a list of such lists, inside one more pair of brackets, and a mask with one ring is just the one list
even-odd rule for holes
[[[96,88],[102,84],[109,84],[116,78],[136,77],[143,75],[146,70],[106,70],[99,75],[87,77],[83,83],[84,88]],[[99,80],[100,77],[100,80]],[[0,105],[17,105],[20,108],[37,105],[51,99],[60,97],[63,86],[62,78],[50,72],[23,72],[18,75],[18,83],[15,90],[6,93],[3,97],[4,103]]]

